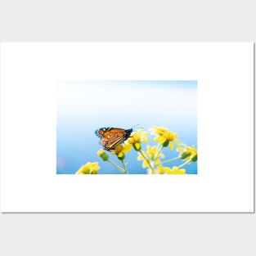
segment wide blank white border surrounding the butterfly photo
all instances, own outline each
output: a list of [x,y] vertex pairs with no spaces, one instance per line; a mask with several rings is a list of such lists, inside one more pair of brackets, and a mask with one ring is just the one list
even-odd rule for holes
[[[1,43],[1,73],[2,212],[254,212],[254,43]],[[198,175],[56,175],[56,83],[90,80],[197,81]]]

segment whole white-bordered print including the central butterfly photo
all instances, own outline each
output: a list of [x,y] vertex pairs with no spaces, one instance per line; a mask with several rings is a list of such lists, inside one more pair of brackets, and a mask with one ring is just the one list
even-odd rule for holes
[[1,211],[254,212],[254,43],[1,43]]

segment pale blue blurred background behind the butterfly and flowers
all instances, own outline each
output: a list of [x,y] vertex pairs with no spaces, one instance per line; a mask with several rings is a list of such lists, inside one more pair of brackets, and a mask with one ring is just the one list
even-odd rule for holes
[[[99,174],[122,174],[97,155],[101,145],[95,130],[103,127],[134,127],[135,131],[138,128],[146,131],[155,125],[176,132],[182,142],[197,148],[197,83],[60,82],[57,84],[56,122],[57,174],[75,173],[83,164],[95,161],[101,166]],[[150,140],[150,146],[153,145],[156,142]],[[177,152],[166,148],[164,155],[165,159],[169,159],[177,156]],[[111,159],[119,164],[115,155]],[[146,173],[141,161],[137,161],[134,150],[126,155],[124,161],[128,163],[129,173]],[[180,165],[182,161],[174,163]],[[173,163],[166,166],[172,167]],[[186,165],[186,173],[197,173],[197,163]]]

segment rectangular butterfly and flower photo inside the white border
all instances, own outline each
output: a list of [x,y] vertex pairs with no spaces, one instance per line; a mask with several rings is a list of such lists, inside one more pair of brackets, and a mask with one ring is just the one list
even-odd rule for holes
[[59,82],[56,173],[196,174],[196,88],[196,81]]

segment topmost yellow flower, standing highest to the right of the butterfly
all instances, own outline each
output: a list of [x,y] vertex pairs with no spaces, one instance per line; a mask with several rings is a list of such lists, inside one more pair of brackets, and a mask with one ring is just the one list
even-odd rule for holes
[[177,138],[177,133],[170,132],[167,128],[158,128],[155,126],[150,130],[153,134],[157,135],[157,137],[154,138],[154,141],[158,141],[160,144],[162,144],[162,146],[170,145],[170,149],[173,150],[174,145],[171,141]]

